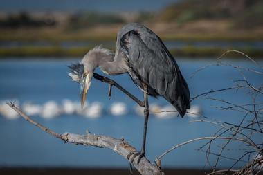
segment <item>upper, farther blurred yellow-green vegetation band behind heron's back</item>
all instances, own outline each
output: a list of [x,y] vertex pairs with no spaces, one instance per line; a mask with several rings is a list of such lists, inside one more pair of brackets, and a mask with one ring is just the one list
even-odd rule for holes
[[[0,30],[1,31],[1,30]],[[57,44],[63,41],[115,41],[117,33],[83,33],[64,31],[53,32],[46,30],[2,30],[0,34],[0,42],[8,41],[47,41]],[[161,33],[159,35],[162,40],[183,40],[183,41],[260,41],[263,40],[263,34],[259,33]]]

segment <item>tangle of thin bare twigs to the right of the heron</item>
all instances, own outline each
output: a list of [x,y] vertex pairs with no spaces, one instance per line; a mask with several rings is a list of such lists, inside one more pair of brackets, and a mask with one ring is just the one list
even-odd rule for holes
[[[233,64],[228,64],[223,62],[222,59],[228,53],[238,53],[246,57],[250,62],[253,62],[255,68],[246,68],[241,66],[235,66]],[[199,140],[208,140],[201,147],[199,151],[206,153],[206,163],[212,166],[212,174],[235,174],[235,175],[246,175],[246,174],[259,174],[263,170],[263,83],[260,85],[252,84],[245,73],[254,73],[255,75],[262,76],[263,68],[255,62],[255,60],[248,55],[242,53],[239,50],[227,50],[220,57],[217,58],[217,64],[211,64],[208,66],[203,66],[197,71],[192,73],[191,77],[194,77],[200,71],[206,68],[211,68],[212,66],[228,66],[237,70],[241,78],[239,80],[233,80],[233,86],[226,87],[224,89],[211,89],[210,91],[205,91],[199,95],[195,95],[191,98],[191,102],[200,97],[204,100],[210,100],[216,102],[217,106],[215,109],[223,110],[228,117],[231,118],[231,113],[235,111],[237,117],[235,116],[235,123],[218,121],[215,119],[208,119],[210,116],[199,115],[199,118],[195,118],[190,122],[208,122],[211,125],[215,125],[219,129],[212,135],[201,138],[194,138],[192,140],[185,141],[179,145],[165,151],[161,156],[156,158],[156,162],[161,161],[166,154],[170,153],[174,149],[178,149],[183,145],[188,145],[191,142],[197,142]],[[263,80],[263,76],[262,76]],[[250,103],[245,102],[231,102],[230,100],[224,98],[214,97],[215,93],[222,94],[226,91],[241,91],[244,95],[247,95],[251,99]],[[208,96],[209,95],[209,96]],[[161,111],[167,112],[167,111]],[[170,111],[172,112],[172,111]],[[239,142],[239,147],[235,149],[229,149],[233,142]],[[237,156],[230,156],[228,154],[230,151],[238,151],[242,154]],[[210,162],[210,157],[213,156],[214,161]],[[219,169],[220,160],[231,160],[233,164],[227,169]]]

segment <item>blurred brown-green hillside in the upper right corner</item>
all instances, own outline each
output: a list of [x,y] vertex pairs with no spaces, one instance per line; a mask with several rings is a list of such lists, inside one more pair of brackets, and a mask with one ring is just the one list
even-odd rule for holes
[[156,18],[179,24],[201,19],[228,19],[235,28],[254,28],[263,24],[263,1],[186,0],[167,6]]

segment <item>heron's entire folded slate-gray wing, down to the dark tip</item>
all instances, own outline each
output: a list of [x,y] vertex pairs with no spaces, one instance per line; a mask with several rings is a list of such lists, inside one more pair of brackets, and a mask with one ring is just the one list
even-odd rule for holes
[[190,108],[190,93],[172,55],[161,39],[145,26],[124,28],[127,29],[127,33],[118,37],[134,82],[140,86],[143,80],[184,114]]

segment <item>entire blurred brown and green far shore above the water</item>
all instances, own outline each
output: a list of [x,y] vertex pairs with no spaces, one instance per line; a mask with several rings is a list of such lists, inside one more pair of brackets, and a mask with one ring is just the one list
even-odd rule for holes
[[[0,15],[0,42],[46,41],[51,46],[3,47],[0,57],[79,57],[90,48],[63,48],[60,44],[115,41],[120,27],[129,22],[146,24],[163,40],[262,41],[263,1],[182,0],[158,12],[11,12]],[[228,49],[183,46],[170,51],[178,56],[206,57],[221,55]],[[259,48],[241,51],[263,58]]]

